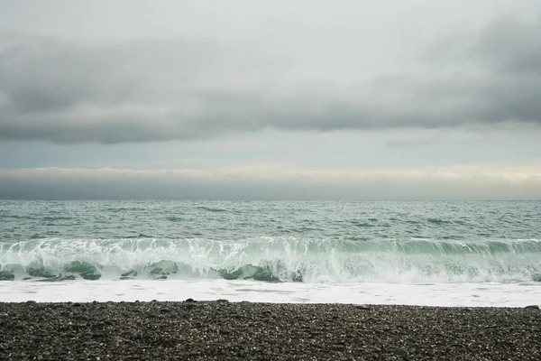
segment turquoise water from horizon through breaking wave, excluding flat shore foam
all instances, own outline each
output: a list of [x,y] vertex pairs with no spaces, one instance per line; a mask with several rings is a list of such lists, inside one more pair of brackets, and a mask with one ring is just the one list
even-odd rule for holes
[[0,279],[541,281],[541,202],[0,201]]

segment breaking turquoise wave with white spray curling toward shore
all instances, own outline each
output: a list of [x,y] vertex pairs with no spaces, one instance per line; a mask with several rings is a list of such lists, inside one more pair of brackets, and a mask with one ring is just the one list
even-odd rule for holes
[[32,239],[0,244],[0,280],[541,282],[541,240]]

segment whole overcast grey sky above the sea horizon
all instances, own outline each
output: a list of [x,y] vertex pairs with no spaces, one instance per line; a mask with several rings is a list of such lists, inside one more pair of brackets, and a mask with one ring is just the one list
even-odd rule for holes
[[541,199],[538,0],[0,0],[0,199]]

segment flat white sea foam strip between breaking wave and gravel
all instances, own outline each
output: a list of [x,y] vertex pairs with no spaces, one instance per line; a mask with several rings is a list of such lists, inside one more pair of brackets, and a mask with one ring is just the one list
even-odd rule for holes
[[541,284],[379,282],[313,284],[226,280],[0,282],[0,301],[228,301],[523,307],[541,303]]

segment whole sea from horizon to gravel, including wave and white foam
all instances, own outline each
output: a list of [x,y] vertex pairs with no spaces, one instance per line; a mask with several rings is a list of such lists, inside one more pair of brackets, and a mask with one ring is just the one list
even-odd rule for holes
[[0,200],[0,301],[541,304],[541,202]]

